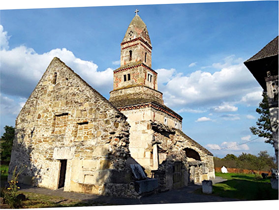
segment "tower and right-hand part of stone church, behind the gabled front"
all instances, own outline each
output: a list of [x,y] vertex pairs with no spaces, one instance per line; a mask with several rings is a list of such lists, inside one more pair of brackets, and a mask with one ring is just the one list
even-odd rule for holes
[[214,179],[213,154],[186,136],[182,117],[164,105],[151,54],[147,27],[136,14],[121,43],[109,99],[127,117],[131,156],[161,190]]

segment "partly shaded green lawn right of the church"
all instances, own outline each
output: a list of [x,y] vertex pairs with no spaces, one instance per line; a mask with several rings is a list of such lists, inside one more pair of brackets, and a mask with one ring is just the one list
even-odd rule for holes
[[272,189],[269,179],[261,179],[253,174],[215,173],[227,181],[213,185],[213,194],[240,200],[278,200],[278,190]]

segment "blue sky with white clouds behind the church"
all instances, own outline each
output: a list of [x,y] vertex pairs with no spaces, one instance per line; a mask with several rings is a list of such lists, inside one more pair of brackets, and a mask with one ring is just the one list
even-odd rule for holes
[[[278,1],[243,1],[1,10],[1,134],[53,57],[59,57],[107,99],[120,43],[134,10],[146,23],[152,68],[183,131],[216,156],[257,154],[262,89],[243,62],[278,35]],[[231,147],[228,150],[216,150]]]

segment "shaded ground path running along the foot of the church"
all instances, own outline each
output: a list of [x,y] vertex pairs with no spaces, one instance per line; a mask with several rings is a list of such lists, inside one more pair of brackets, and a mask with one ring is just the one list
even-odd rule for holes
[[137,204],[175,204],[175,203],[200,203],[200,202],[225,202],[239,201],[231,198],[221,198],[211,195],[193,193],[201,185],[190,185],[184,188],[153,194],[140,199],[117,198],[112,196],[99,196],[93,194],[64,192],[63,189],[51,190],[41,187],[31,187],[21,184],[20,191],[38,194],[60,196],[64,199],[79,200],[81,203],[99,203],[102,205],[137,205]]

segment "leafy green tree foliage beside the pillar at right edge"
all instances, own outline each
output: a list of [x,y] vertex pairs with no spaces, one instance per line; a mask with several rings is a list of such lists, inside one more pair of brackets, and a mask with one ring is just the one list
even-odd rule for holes
[[267,92],[263,91],[262,96],[263,99],[259,103],[259,108],[256,109],[256,112],[260,114],[260,118],[256,122],[257,127],[254,126],[250,127],[250,131],[254,135],[258,135],[259,137],[266,138],[267,140],[265,140],[265,143],[272,144],[274,147],[272,128],[270,123],[270,113],[268,108]]

